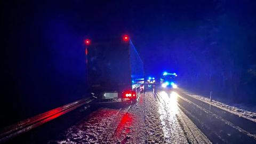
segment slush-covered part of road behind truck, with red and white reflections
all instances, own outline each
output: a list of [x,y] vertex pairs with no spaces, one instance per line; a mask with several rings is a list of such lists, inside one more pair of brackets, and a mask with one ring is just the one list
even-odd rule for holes
[[210,143],[175,98],[146,92],[129,111],[100,108],[49,143]]

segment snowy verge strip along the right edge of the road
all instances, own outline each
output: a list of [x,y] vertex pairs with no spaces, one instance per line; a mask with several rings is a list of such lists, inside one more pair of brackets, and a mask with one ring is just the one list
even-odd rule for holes
[[256,107],[247,107],[243,104],[225,104],[219,101],[212,100],[210,101],[209,98],[205,98],[202,95],[197,95],[194,93],[190,93],[183,90],[183,93],[193,97],[195,99],[201,100],[203,102],[209,103],[209,105],[218,107],[220,109],[226,110],[229,113],[238,115],[239,117],[243,117],[249,119],[250,121],[256,122]]

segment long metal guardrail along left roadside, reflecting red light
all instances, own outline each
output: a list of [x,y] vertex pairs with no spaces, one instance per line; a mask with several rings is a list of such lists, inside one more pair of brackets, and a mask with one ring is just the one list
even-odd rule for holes
[[45,113],[27,118],[23,121],[7,126],[0,131],[0,143],[5,142],[29,130],[32,130],[35,127],[38,127],[44,123],[51,121],[52,119],[55,119],[63,114],[68,113],[71,110],[74,110],[87,103],[90,103],[93,100],[94,98],[77,100],[75,102],[68,103],[67,105],[46,111]]

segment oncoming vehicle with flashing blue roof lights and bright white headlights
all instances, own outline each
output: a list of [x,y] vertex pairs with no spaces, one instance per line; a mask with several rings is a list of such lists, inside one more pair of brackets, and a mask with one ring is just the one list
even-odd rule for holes
[[161,86],[163,88],[173,88],[176,89],[178,86],[176,84],[176,77],[178,75],[176,73],[167,73],[164,72],[163,76],[161,77]]

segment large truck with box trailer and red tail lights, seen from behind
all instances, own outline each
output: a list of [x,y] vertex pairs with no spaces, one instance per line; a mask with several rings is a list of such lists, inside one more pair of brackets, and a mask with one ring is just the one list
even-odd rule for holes
[[85,40],[89,92],[101,101],[136,102],[144,87],[143,62],[129,36]]

